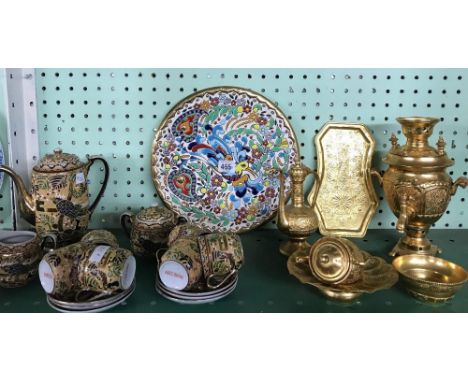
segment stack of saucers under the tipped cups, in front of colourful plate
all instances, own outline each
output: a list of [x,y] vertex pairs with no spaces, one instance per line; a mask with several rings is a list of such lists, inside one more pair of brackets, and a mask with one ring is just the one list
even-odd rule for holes
[[223,287],[208,291],[203,289],[182,291],[168,288],[161,282],[159,275],[156,277],[156,291],[164,298],[180,304],[206,304],[217,301],[232,293],[236,286],[237,274],[231,277]]

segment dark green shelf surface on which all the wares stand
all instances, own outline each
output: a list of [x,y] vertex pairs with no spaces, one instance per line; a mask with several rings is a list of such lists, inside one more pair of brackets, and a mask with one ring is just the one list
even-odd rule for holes
[[[129,246],[121,231],[113,231],[121,245]],[[313,242],[320,236],[310,238]],[[443,249],[441,257],[468,268],[468,230],[433,230],[430,239]],[[370,230],[365,239],[353,240],[360,248],[390,262],[387,253],[398,240],[394,230]],[[393,288],[364,294],[352,303],[335,302],[315,288],[301,284],[288,274],[286,257],[278,253],[285,237],[275,230],[257,230],[242,235],[245,265],[237,288],[222,300],[204,305],[181,305],[155,291],[156,260],[137,258],[136,290],[114,313],[227,313],[227,312],[468,312],[468,287],[445,304],[427,304],[412,298],[399,282]],[[39,280],[17,289],[0,288],[0,312],[54,312],[46,301]]]

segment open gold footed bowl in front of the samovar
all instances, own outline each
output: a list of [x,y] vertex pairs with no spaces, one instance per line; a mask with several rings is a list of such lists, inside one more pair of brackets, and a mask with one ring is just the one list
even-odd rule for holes
[[408,292],[424,302],[450,300],[468,279],[463,267],[434,256],[404,255],[392,264]]

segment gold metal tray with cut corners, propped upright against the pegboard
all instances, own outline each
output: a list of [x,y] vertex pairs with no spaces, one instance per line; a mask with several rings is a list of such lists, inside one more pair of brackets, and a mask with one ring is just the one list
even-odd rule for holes
[[319,182],[308,201],[320,233],[364,237],[378,206],[371,179],[374,138],[365,125],[329,122],[316,135],[315,147]]

